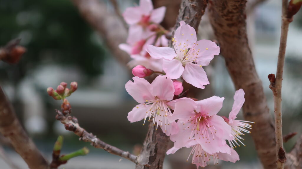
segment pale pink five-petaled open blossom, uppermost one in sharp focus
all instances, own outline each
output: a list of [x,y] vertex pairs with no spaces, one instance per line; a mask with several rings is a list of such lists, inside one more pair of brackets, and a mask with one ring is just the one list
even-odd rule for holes
[[186,82],[203,89],[209,81],[202,66],[209,65],[220,48],[209,40],[197,41],[195,29],[184,21],[172,41],[174,49],[149,45],[146,50],[154,59],[164,59],[162,67],[167,77],[177,79],[182,75]]

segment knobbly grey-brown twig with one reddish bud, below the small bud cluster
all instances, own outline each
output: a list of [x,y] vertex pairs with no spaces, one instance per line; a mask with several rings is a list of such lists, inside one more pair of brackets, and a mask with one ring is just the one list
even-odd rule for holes
[[70,115],[71,106],[67,99],[64,99],[62,103],[62,112],[59,110],[56,110],[56,112],[56,119],[64,124],[66,130],[73,131],[74,134],[79,136],[79,140],[90,142],[95,148],[104,149],[113,155],[118,155],[137,164],[137,156],[101,141],[95,135],[88,133],[84,128],[80,127],[77,118]]

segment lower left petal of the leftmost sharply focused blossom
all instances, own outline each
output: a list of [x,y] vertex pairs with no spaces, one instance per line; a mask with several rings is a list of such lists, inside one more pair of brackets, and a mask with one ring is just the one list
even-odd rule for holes
[[141,121],[145,118],[147,111],[148,107],[146,107],[144,103],[141,103],[133,107],[132,111],[128,113],[127,118],[131,123]]

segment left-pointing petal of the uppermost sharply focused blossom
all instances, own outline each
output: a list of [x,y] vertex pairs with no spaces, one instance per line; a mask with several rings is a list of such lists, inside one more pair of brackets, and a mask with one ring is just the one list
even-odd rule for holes
[[177,55],[175,54],[174,49],[168,47],[156,47],[153,45],[149,45],[146,51],[150,54],[154,59],[167,59],[172,60]]

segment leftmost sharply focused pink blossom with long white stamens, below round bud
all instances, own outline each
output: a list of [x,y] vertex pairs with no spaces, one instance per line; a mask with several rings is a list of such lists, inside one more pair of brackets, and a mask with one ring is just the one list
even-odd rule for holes
[[[128,120],[132,123],[144,119],[143,125],[146,119],[152,120],[153,124],[157,124],[157,127],[160,126],[168,136],[176,134],[178,125],[175,121],[169,120],[172,115],[169,102],[173,99],[175,92],[173,81],[161,75],[157,76],[151,84],[146,79],[139,77],[133,77],[133,81],[128,81],[125,88],[140,104],[128,113]],[[178,100],[191,99],[181,98]],[[178,100],[173,101],[178,102]]]

